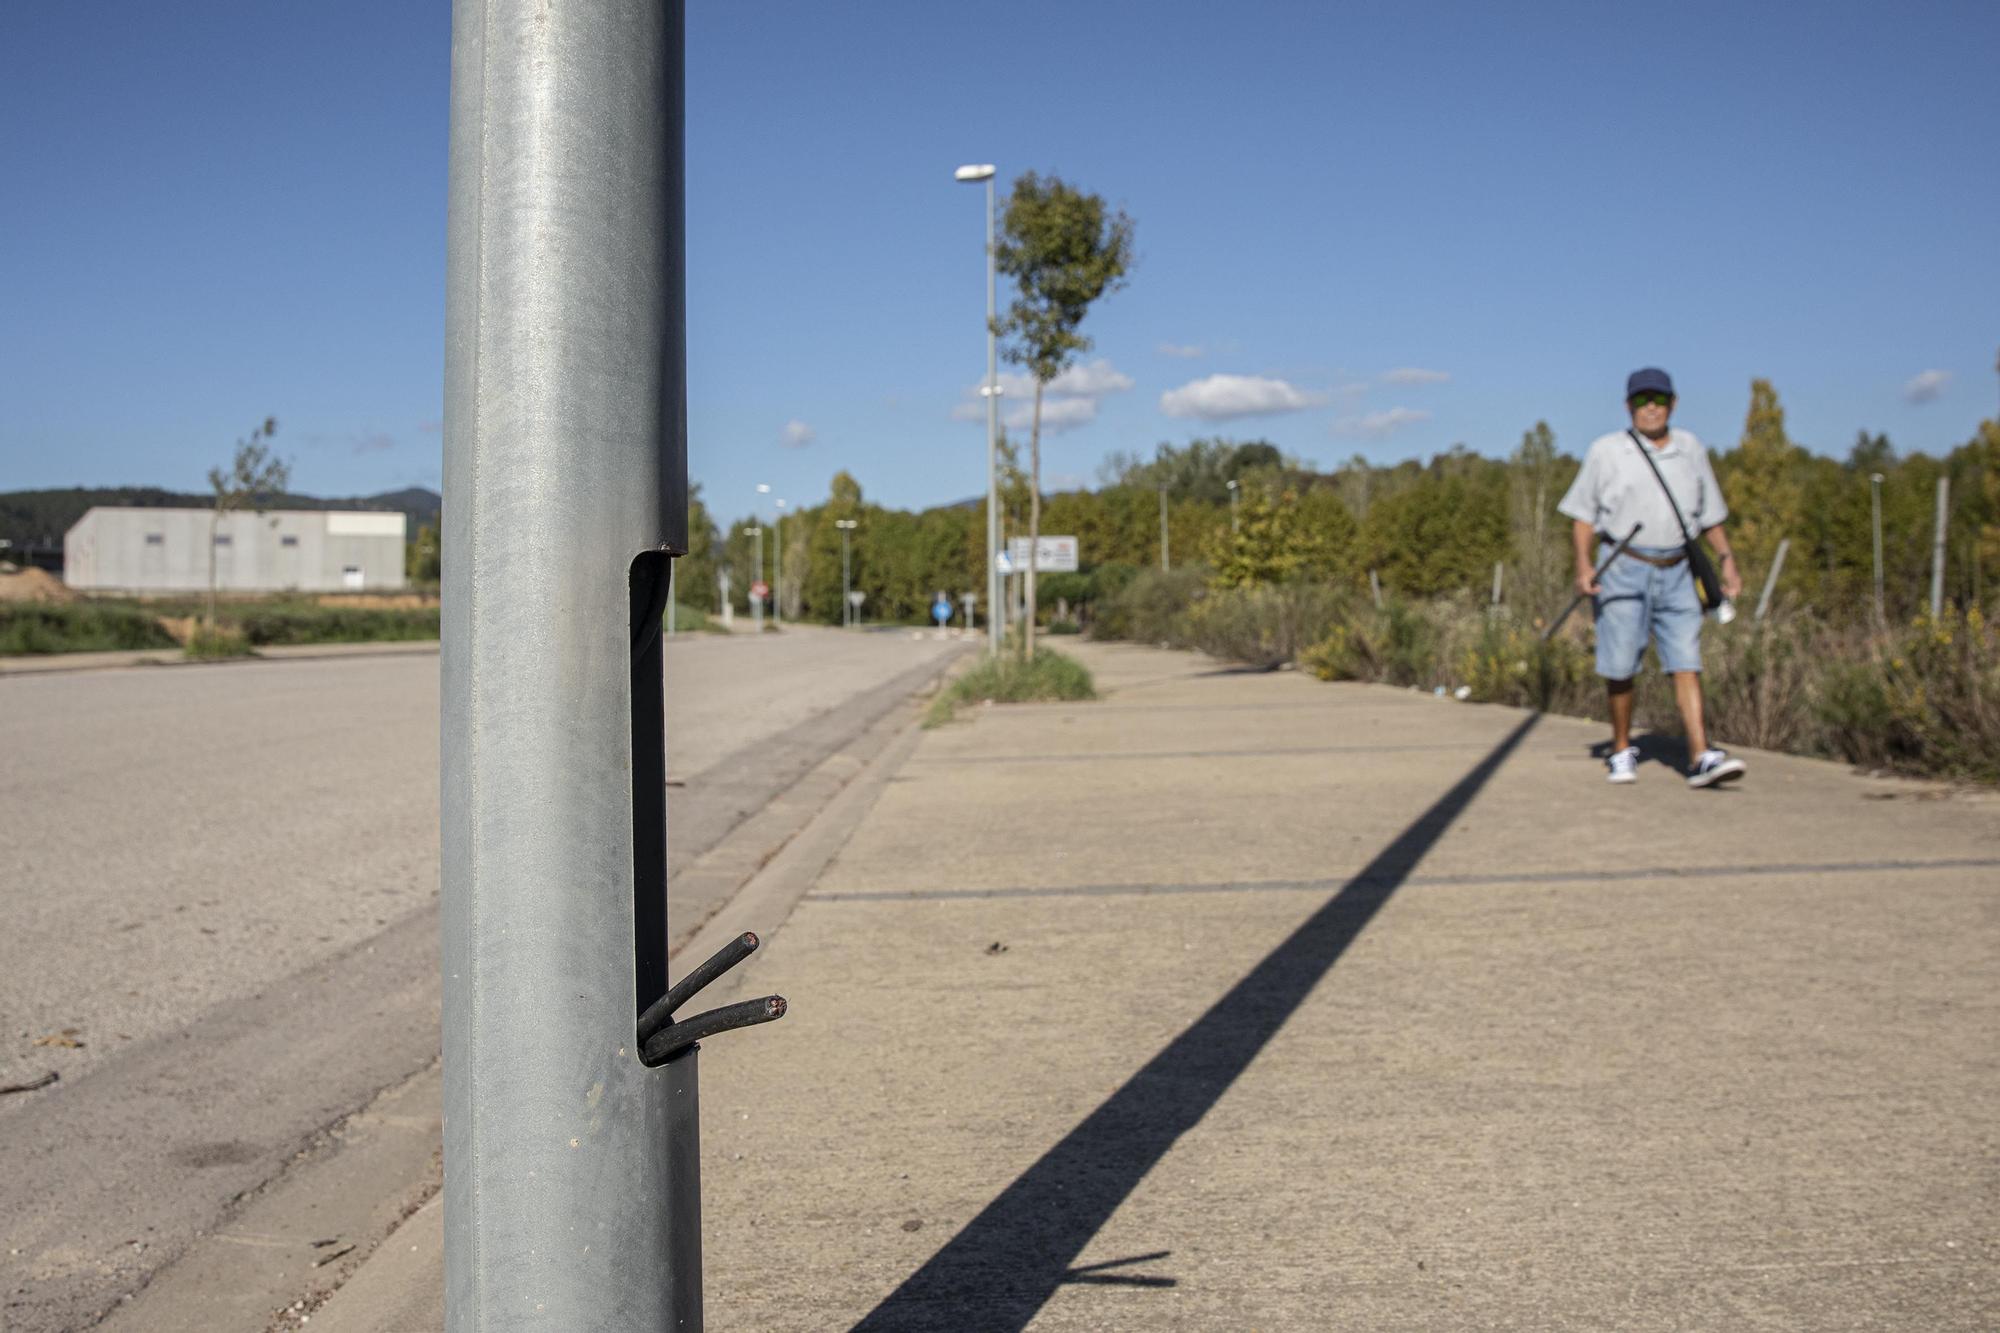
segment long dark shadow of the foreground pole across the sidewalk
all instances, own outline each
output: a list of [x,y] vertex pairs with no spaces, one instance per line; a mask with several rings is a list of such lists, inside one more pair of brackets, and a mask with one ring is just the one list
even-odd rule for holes
[[[1532,715],[1508,733],[1228,995],[854,1325],[856,1333],[1022,1329],[1056,1287],[1118,1281],[1092,1271],[1112,1265],[1072,1267],[1084,1245],[1180,1135],[1208,1115],[1538,721]],[[1124,1283],[1172,1285],[1138,1275]]]

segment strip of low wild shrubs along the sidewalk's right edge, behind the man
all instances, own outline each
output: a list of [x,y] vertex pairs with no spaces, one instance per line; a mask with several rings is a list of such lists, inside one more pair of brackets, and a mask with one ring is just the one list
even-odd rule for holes
[[[1320,584],[1204,590],[1186,570],[1152,570],[1104,604],[1094,632],[1260,664],[1296,656],[1324,681],[1466,687],[1482,703],[1606,717],[1586,636],[1542,642],[1466,596],[1376,610]],[[2000,632],[1976,608],[1920,616],[1886,638],[1774,616],[1712,626],[1702,640],[1708,731],[1720,745],[2000,783]],[[1640,729],[1680,733],[1670,677],[1642,669],[1636,695]]]

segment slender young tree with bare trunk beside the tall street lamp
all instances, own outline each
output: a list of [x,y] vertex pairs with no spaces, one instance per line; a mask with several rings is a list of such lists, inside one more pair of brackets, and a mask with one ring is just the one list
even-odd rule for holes
[[1132,266],[1132,218],[1112,212],[1058,176],[1026,172],[1008,194],[994,264],[1020,286],[994,332],[1006,358],[1034,376],[1028,432],[1028,614],[1022,650],[1034,658],[1034,566],[1042,536],[1042,392],[1070,368],[1090,338],[1078,332],[1092,302],[1124,286]]

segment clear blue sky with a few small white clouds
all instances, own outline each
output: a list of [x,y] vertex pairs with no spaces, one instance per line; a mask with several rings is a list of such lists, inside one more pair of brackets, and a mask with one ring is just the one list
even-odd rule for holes
[[[444,4],[10,6],[0,490],[198,488],[264,414],[302,490],[436,486],[448,46]],[[1052,488],[1202,434],[1580,452],[1638,364],[1712,444],[1768,376],[1818,450],[1950,448],[2000,396],[1996,50],[1990,2],[694,0],[690,468],[722,518],[984,488],[960,162],[1136,222]]]

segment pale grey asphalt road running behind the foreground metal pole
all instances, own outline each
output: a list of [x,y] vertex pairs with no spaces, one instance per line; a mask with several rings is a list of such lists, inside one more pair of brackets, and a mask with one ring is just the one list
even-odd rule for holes
[[[954,646],[674,640],[676,863]],[[436,885],[436,656],[0,681],[0,1087],[60,1073],[0,1097],[0,1327],[102,1309],[430,1059]]]

